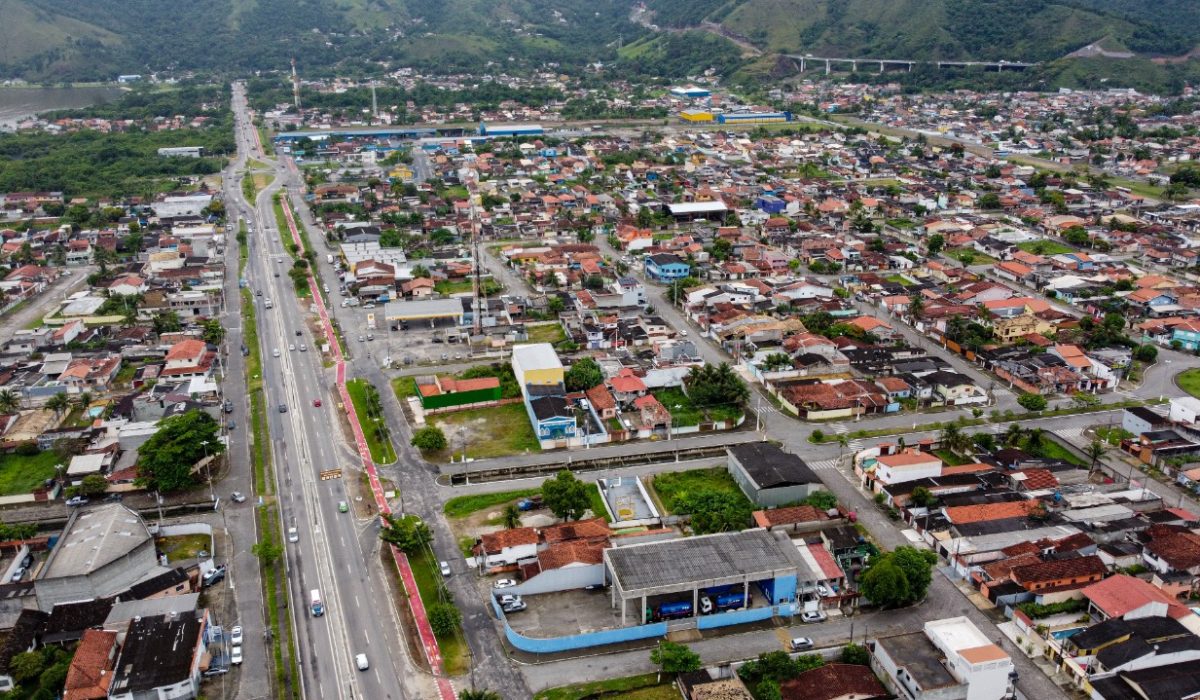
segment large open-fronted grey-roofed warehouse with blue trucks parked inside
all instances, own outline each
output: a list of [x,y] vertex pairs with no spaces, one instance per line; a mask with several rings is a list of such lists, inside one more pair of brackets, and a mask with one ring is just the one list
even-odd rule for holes
[[809,572],[796,546],[784,533],[766,530],[722,532],[665,542],[650,542],[604,551],[605,575],[612,581],[612,605],[620,604],[626,624],[629,605],[636,605],[636,622],[655,611],[677,610],[692,617],[701,609],[701,591],[721,587],[748,599],[767,596],[767,605],[796,599],[797,581],[811,585]]

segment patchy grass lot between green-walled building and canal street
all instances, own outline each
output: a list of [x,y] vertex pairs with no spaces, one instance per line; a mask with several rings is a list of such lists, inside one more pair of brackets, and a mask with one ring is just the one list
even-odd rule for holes
[[463,439],[467,456],[476,460],[541,450],[523,403],[431,415],[428,423],[440,427],[446,436],[449,447],[439,455],[445,461],[451,454],[462,455]]

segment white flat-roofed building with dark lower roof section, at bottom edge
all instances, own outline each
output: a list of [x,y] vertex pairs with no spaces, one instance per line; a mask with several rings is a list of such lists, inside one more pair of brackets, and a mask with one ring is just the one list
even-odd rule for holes
[[966,617],[932,620],[923,632],[875,640],[871,668],[911,700],[1001,700],[1012,693],[1013,659]]

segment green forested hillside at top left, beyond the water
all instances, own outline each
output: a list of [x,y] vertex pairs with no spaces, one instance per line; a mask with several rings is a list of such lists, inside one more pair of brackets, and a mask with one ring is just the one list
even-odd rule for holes
[[0,0],[0,78],[168,68],[306,74],[616,58],[630,0]]

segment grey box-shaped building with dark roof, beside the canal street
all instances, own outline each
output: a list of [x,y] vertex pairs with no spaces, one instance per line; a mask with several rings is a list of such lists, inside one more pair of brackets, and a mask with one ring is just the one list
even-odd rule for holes
[[728,468],[746,497],[761,508],[796,503],[824,490],[804,460],[769,442],[731,447]]

